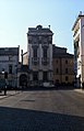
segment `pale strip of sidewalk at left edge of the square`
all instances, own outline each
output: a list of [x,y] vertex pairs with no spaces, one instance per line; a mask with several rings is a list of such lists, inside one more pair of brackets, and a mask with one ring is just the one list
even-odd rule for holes
[[0,92],[0,99],[7,98],[7,97],[11,97],[11,96],[14,96],[14,95],[17,95],[17,94],[20,94],[19,90],[8,90],[7,95],[4,96],[4,91],[2,90]]

